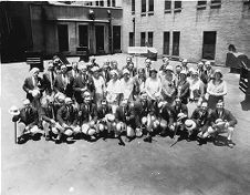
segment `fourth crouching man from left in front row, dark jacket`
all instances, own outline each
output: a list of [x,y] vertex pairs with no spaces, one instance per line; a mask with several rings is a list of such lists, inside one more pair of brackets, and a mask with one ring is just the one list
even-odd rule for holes
[[97,110],[96,105],[92,103],[91,93],[88,91],[83,94],[83,103],[79,109],[79,123],[82,132],[91,140],[95,140],[97,134]]

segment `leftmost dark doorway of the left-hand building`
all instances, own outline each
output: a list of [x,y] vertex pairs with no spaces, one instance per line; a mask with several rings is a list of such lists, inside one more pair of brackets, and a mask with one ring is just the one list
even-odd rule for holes
[[59,51],[69,51],[69,32],[67,24],[58,25]]

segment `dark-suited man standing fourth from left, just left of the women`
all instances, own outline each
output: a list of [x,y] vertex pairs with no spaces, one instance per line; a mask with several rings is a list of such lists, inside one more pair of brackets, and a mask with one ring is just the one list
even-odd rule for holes
[[80,74],[75,78],[73,83],[74,96],[79,104],[83,102],[82,93],[90,91],[94,93],[95,86],[93,79],[87,74],[87,68],[85,64],[79,66]]

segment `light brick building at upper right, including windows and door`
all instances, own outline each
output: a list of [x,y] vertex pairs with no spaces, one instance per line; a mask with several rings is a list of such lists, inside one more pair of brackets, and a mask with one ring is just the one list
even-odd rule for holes
[[225,64],[228,45],[235,44],[250,57],[249,0],[124,0],[123,13],[125,52],[148,44],[159,55]]

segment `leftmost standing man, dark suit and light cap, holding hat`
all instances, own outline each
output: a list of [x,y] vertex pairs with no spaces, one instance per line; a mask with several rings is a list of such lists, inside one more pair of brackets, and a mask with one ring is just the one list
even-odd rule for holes
[[45,89],[43,80],[39,76],[39,72],[40,70],[38,68],[33,68],[30,71],[31,76],[28,76],[22,85],[22,89],[27,92],[27,99],[38,110],[40,109],[40,99]]

